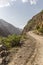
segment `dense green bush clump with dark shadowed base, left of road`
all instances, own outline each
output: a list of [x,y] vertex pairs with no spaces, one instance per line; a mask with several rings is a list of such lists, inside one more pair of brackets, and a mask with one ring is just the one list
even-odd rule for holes
[[9,35],[8,37],[1,38],[1,44],[4,44],[7,48],[19,46],[20,39],[21,39],[21,36]]

